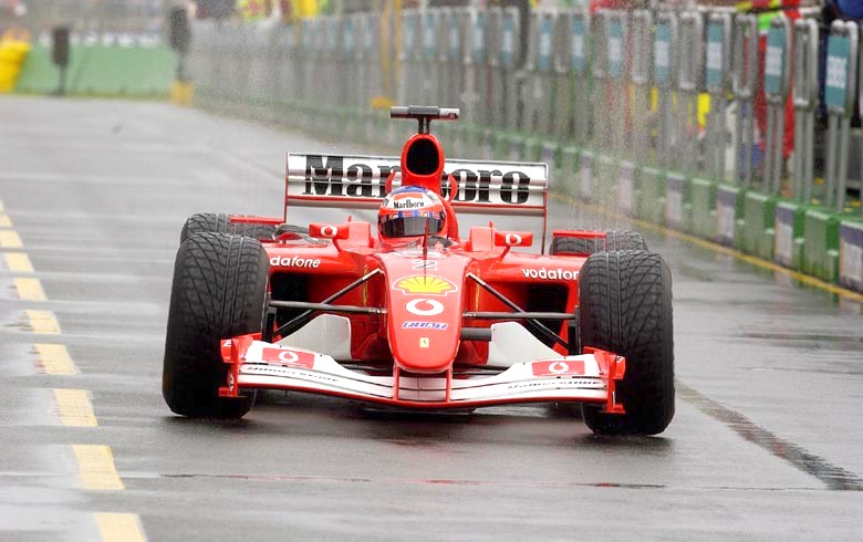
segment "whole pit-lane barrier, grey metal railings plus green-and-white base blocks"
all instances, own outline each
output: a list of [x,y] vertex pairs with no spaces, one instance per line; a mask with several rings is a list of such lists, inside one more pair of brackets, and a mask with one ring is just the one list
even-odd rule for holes
[[206,106],[330,137],[397,145],[409,127],[370,105],[459,106],[465,122],[439,127],[455,155],[541,159],[558,191],[863,291],[863,216],[846,197],[859,33],[829,37],[825,183],[819,28],[781,14],[766,35],[751,14],[647,10],[201,22],[189,70]]

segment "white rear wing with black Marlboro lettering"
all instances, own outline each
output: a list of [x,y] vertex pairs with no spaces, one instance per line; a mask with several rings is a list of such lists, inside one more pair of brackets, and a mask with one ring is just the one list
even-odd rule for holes
[[[386,196],[386,179],[393,171],[393,187],[398,187],[398,157],[289,154],[285,221],[291,206],[377,209]],[[544,230],[548,165],[447,159],[441,179],[444,197],[448,196],[449,175],[458,184],[451,200],[457,211],[490,217],[542,217]]]

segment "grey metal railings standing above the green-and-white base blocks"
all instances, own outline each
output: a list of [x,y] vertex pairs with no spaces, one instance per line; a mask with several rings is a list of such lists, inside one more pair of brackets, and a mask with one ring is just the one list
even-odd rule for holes
[[[529,29],[527,46],[519,42],[522,25]],[[357,113],[373,103],[439,103],[461,108],[484,154],[506,148],[495,143],[505,136],[493,131],[799,202],[819,196],[819,35],[812,20],[791,24],[776,17],[761,43],[763,58],[756,17],[728,12],[547,10],[522,21],[513,8],[440,8],[352,13],[298,27],[197,22],[194,30],[190,70],[198,87],[253,103],[275,121],[293,116],[308,124],[314,108]],[[839,210],[845,205],[854,98],[863,93],[859,32],[854,23],[838,22],[829,40],[821,196]],[[765,126],[757,121],[759,93],[768,104]],[[710,107],[703,126],[705,95]],[[796,111],[790,160],[789,102]],[[378,129],[364,118],[363,131]],[[389,139],[397,128],[385,129],[381,137]],[[476,142],[469,143],[456,147],[475,149]]]

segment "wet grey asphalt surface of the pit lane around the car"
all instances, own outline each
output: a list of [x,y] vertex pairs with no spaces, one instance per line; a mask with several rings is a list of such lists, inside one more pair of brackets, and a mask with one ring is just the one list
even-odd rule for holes
[[674,273],[659,437],[303,395],[183,419],[159,386],[186,216],[279,215],[285,150],[364,149],[164,104],[3,97],[0,118],[0,540],[860,540],[856,301],[646,231]]

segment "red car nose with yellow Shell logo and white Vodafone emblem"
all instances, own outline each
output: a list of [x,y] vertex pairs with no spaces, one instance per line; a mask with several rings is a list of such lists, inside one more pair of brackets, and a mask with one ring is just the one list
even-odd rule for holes
[[387,331],[396,364],[415,373],[453,365],[461,335],[464,275],[468,259],[382,256],[389,282]]

